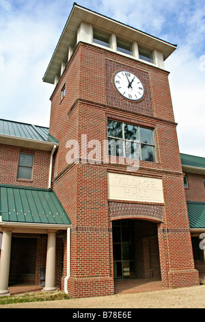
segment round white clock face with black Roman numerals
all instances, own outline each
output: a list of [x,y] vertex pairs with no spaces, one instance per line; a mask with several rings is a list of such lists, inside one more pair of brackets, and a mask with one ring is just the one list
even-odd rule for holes
[[144,97],[145,90],[141,80],[130,71],[116,71],[113,75],[113,84],[129,101],[140,101]]

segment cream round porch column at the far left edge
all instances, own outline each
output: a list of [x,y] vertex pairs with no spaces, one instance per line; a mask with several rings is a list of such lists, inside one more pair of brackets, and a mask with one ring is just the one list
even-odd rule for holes
[[0,296],[10,295],[8,280],[10,273],[11,244],[12,230],[4,230],[0,258]]

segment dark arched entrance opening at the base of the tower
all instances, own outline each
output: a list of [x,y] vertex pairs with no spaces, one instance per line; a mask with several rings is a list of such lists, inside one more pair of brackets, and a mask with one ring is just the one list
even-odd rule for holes
[[115,279],[161,279],[157,223],[120,219],[112,232]]

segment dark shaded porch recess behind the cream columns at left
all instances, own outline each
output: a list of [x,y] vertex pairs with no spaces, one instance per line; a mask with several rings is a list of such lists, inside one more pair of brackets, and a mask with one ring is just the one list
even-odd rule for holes
[[[55,286],[61,288],[63,275],[64,232],[56,236]],[[47,235],[18,234],[12,236],[10,283],[41,285],[41,269],[46,268]]]

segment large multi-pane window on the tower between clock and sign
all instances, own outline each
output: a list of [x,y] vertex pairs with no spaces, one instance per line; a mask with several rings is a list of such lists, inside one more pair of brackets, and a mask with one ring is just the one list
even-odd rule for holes
[[109,155],[155,162],[153,130],[108,120]]

